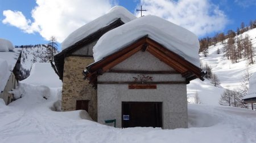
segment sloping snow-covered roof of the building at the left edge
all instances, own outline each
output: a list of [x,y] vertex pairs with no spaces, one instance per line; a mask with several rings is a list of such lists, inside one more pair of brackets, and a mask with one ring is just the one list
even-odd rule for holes
[[6,83],[19,58],[20,51],[0,51],[0,92],[5,88]]

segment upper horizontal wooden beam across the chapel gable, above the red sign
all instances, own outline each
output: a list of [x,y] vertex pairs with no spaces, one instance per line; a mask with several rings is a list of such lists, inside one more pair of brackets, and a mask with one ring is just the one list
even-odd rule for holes
[[108,70],[110,73],[141,73],[141,74],[179,74],[177,71],[138,71],[138,70]]

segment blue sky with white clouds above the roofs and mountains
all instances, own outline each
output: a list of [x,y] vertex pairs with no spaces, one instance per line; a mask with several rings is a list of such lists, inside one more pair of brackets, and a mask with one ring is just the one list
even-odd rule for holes
[[28,45],[46,44],[47,38],[56,35],[62,42],[69,33],[114,5],[137,16],[135,10],[142,5],[147,10],[144,15],[160,16],[199,38],[228,29],[236,31],[242,21],[249,24],[256,19],[256,0],[0,0],[0,38],[14,45]]

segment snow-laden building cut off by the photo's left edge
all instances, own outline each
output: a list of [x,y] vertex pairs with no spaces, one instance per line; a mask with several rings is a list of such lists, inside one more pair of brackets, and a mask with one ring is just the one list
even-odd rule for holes
[[0,98],[6,105],[14,99],[9,92],[18,85],[20,58],[21,52],[10,41],[0,39]]

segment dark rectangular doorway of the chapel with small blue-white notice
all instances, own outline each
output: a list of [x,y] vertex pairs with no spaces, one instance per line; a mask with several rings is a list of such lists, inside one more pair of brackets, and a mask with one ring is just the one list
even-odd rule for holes
[[162,127],[162,102],[122,102],[122,127]]

